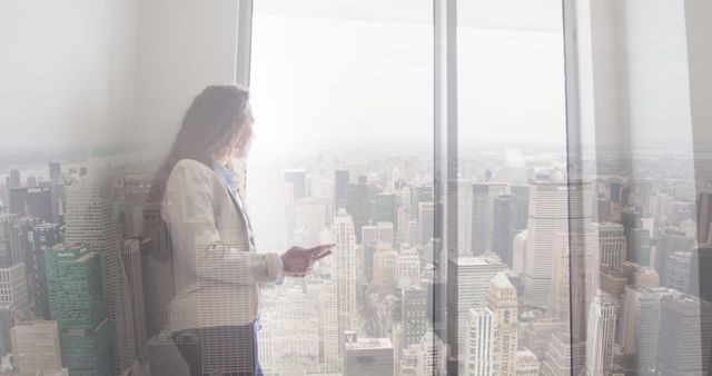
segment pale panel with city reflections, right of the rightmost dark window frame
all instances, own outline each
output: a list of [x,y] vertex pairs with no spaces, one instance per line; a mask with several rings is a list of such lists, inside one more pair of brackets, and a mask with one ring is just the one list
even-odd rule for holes
[[597,280],[572,280],[593,296],[572,308],[582,309],[572,321],[585,328],[574,340],[589,374],[710,372],[711,128],[702,103],[711,9],[603,1],[577,10],[581,174],[594,181],[600,269]]

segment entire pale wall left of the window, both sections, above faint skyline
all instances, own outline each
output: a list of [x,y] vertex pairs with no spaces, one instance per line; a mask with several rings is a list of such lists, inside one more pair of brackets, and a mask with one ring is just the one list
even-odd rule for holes
[[0,151],[169,142],[194,96],[234,82],[237,6],[0,1]]

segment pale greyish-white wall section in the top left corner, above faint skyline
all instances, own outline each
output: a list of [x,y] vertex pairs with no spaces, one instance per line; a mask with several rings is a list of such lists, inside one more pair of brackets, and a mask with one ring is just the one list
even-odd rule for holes
[[0,1],[0,150],[121,141],[136,0]]

